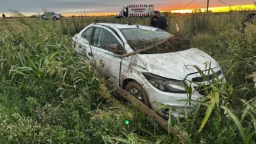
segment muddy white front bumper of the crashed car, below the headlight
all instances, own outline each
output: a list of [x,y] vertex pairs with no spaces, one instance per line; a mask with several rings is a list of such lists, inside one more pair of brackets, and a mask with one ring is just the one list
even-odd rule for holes
[[[192,88],[192,96],[191,100],[200,100],[203,96],[202,92],[197,91],[195,88],[197,86],[196,83],[190,83],[191,79],[193,77],[199,77],[198,74],[195,75],[189,75],[189,77],[186,77],[186,84],[188,86],[191,86]],[[223,79],[223,82],[225,83],[224,75],[221,73],[219,75],[219,79]],[[189,83],[189,84],[188,84]],[[205,82],[201,82],[202,84],[205,84]],[[143,85],[144,90],[146,91],[146,94],[148,95],[148,99],[151,104],[152,109],[158,109],[160,106],[160,103],[162,105],[166,105],[167,107],[170,107],[172,110],[173,117],[177,117],[178,115],[181,115],[181,117],[184,116],[184,113],[190,113],[193,111],[194,106],[196,103],[194,102],[188,102],[186,100],[189,99],[188,94],[177,94],[177,93],[170,93],[170,92],[163,92],[159,90],[158,88],[154,87],[150,82],[146,82]],[[168,117],[166,115],[167,111],[166,109],[160,109],[157,111],[161,116]]]

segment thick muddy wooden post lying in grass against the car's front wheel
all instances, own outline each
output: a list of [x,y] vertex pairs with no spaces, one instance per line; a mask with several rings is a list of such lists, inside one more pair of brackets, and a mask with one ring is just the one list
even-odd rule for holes
[[[146,115],[148,115],[149,117],[152,117],[154,120],[156,120],[156,122],[158,122],[158,124],[160,124],[160,126],[163,128],[163,130],[168,132],[167,120],[160,117],[158,114],[156,114],[154,111],[152,111],[152,109],[150,109],[149,107],[144,105],[144,103],[139,101],[139,99],[135,98],[135,96],[129,94],[129,92],[123,90],[122,88],[120,88],[120,87],[116,88],[116,92],[117,92],[117,94],[119,94],[122,98],[126,99],[127,101],[129,101],[131,103],[136,103],[137,106],[139,106],[139,108],[142,109],[142,111],[144,111],[146,113]],[[175,133],[175,128],[173,128],[173,126],[171,126],[170,134],[173,135],[174,133]]]

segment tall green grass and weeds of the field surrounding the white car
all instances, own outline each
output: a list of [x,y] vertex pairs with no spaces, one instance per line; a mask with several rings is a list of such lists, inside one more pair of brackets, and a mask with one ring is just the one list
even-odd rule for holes
[[167,30],[179,24],[183,37],[221,64],[227,81],[205,88],[193,113],[169,118],[179,130],[173,137],[136,105],[113,98],[98,72],[74,53],[71,37],[93,18],[1,21],[0,143],[255,143],[256,31],[252,25],[240,33],[244,15],[169,16]]

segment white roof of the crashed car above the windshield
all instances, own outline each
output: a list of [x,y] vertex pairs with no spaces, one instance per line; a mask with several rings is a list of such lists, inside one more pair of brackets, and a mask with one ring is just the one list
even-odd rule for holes
[[148,30],[152,30],[152,31],[156,31],[158,29],[156,27],[129,25],[129,24],[96,23],[95,25],[116,27],[117,29],[140,28],[140,29],[148,29]]

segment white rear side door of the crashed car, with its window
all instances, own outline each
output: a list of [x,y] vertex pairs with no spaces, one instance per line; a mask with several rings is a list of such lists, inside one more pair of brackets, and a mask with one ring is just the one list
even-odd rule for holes
[[77,37],[77,46],[75,46],[75,51],[78,52],[78,54],[84,58],[85,60],[91,60],[91,57],[88,57],[88,55],[91,55],[91,39],[93,35],[94,27],[89,27],[81,33],[81,37]]

